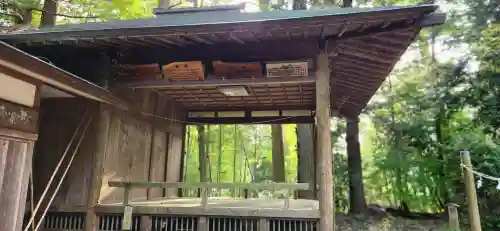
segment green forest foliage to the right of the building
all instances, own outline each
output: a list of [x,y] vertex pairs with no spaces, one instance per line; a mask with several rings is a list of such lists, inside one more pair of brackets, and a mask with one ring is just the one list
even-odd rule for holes
[[[460,150],[473,153],[478,171],[500,176],[498,12],[474,4],[461,16],[452,14],[448,25],[423,31],[421,57],[394,73],[366,111],[371,126],[364,137],[371,147],[364,149],[363,161],[369,202],[440,212],[451,201],[466,210]],[[458,8],[457,3],[453,10]],[[449,45],[466,44],[471,53],[438,61],[439,54],[429,47],[439,36],[455,38]],[[467,70],[474,62],[478,69]],[[478,189],[485,230],[497,230],[500,223],[493,215],[500,210],[497,185],[485,180]]]

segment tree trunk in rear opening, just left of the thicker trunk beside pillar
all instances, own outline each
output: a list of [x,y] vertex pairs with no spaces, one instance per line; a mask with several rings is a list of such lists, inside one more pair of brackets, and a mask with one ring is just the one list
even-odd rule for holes
[[285,157],[283,155],[283,129],[280,124],[271,125],[273,139],[273,181],[285,182]]

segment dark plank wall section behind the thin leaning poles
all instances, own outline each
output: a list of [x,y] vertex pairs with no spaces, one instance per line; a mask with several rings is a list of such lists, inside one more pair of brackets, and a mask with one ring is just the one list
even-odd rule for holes
[[[34,193],[38,201],[41,193],[45,189],[50,176],[52,175],[59,159],[63,155],[73,133],[85,111],[95,113],[98,104],[92,101],[79,98],[53,98],[41,101],[39,139],[35,145],[34,153]],[[65,207],[84,208],[87,201],[88,188],[90,186],[92,158],[94,154],[95,129],[92,121],[80,149],[75,156],[73,164],[66,175],[66,178],[57,194],[52,207],[62,209]],[[83,129],[83,128],[82,128]],[[79,137],[76,137],[75,143]],[[69,161],[74,149],[70,149],[66,161],[59,169],[60,174],[56,175],[52,183],[49,196],[59,181],[64,168]]]

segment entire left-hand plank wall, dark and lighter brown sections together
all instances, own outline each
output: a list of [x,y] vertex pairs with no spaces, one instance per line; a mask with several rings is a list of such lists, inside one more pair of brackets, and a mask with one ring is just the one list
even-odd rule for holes
[[[129,100],[141,102],[142,112],[185,120],[184,110],[155,92],[138,91],[129,93],[129,97],[134,97]],[[73,165],[52,203],[53,210],[80,211],[95,202],[121,202],[123,192],[121,189],[107,187],[109,180],[177,181],[180,178],[183,123],[123,111],[114,106],[78,98],[46,99],[41,102],[41,108],[39,140],[34,154],[37,201],[86,109],[93,115]],[[99,128],[99,119],[103,119],[99,115],[102,112],[109,115],[106,129]],[[103,137],[99,132],[107,133],[103,152],[96,150],[96,137]],[[67,159],[71,152],[72,149]],[[95,155],[103,155],[102,163],[99,163],[102,165],[101,169],[96,170],[93,166],[96,164]],[[60,172],[63,172],[66,162],[63,162]],[[99,182],[98,199],[96,197],[94,203],[89,203],[87,199],[92,188],[93,171],[102,171],[102,181]],[[60,177],[60,174],[56,176],[53,185]],[[52,192],[49,191],[48,195]],[[176,192],[172,192],[169,196],[175,194]],[[132,199],[139,200],[164,197],[165,192],[162,189],[137,189],[131,195]]]

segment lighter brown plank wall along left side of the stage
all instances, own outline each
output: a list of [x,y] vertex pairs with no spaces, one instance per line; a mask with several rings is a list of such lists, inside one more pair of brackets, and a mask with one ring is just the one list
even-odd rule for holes
[[[109,180],[178,181],[182,159],[185,111],[153,91],[135,91],[129,100],[141,103],[138,116],[109,108],[111,119],[104,153],[100,203],[123,201],[123,189],[109,188]],[[168,118],[168,119],[165,119]],[[132,200],[175,196],[162,189],[134,189]]]

